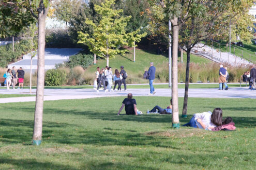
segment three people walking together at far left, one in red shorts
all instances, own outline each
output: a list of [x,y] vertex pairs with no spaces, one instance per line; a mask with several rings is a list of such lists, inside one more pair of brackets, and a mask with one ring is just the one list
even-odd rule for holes
[[3,76],[5,78],[5,84],[6,84],[7,90],[10,89],[11,83],[12,83],[12,89],[15,89],[15,86],[18,83],[18,80],[19,80],[18,89],[20,89],[20,87],[21,89],[23,89],[24,74],[25,72],[24,70],[22,70],[22,67],[20,67],[20,69],[17,71],[15,66],[12,67],[12,70],[8,69]]

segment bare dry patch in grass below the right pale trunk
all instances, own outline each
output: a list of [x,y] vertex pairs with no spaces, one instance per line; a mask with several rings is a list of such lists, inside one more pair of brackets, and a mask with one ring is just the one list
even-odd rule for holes
[[209,131],[203,129],[177,129],[177,130],[168,130],[168,131],[153,131],[145,132],[145,135],[149,136],[159,136],[159,137],[172,137],[172,138],[189,138],[189,137],[202,137],[209,133]]

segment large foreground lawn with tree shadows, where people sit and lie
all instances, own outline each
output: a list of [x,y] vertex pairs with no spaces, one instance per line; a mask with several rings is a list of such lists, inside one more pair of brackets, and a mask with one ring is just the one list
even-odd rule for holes
[[[169,97],[135,97],[144,113]],[[188,118],[223,110],[236,131],[172,129],[171,115],[117,116],[124,97],[44,101],[42,145],[32,146],[34,102],[0,104],[1,169],[253,169],[255,99],[189,98]],[[179,98],[179,112],[183,98]],[[124,113],[124,111],[122,111]]]

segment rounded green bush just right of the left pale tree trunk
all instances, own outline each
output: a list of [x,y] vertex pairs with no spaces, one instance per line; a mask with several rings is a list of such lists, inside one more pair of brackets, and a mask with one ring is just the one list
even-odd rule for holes
[[46,72],[46,86],[61,86],[67,83],[67,72],[63,69],[51,69]]

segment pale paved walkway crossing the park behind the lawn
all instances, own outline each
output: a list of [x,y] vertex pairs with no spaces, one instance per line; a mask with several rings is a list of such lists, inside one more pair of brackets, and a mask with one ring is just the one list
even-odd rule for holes
[[[32,90],[36,94],[36,89]],[[133,96],[148,96],[149,89],[128,89],[126,92],[104,92],[97,93],[93,89],[44,89],[44,100],[61,100],[61,99],[82,99],[94,97],[111,97],[111,96],[127,96],[132,93]],[[0,89],[0,94],[29,94],[29,89],[23,90],[6,90]],[[171,89],[156,89],[153,96],[171,96]],[[178,96],[184,97],[184,89],[178,89]],[[216,89],[189,89],[189,97],[207,97],[207,98],[255,98],[256,91],[251,91],[248,87],[229,88],[228,91]],[[35,101],[35,96],[28,97],[11,97],[0,98],[0,103],[14,103]]]

